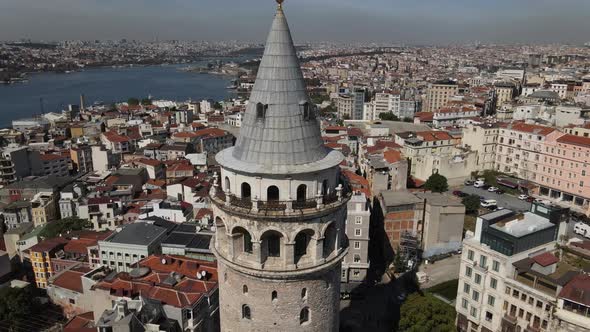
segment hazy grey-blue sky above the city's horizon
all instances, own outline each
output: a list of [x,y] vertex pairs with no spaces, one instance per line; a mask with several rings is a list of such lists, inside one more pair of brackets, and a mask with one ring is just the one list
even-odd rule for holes
[[[0,40],[264,41],[273,0],[0,0]],[[590,41],[590,0],[285,0],[296,42]]]

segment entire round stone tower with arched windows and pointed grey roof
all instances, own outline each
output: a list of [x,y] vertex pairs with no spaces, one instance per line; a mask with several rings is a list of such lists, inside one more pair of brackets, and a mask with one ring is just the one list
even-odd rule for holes
[[342,154],[323,144],[279,3],[236,145],[211,191],[222,331],[338,331]]

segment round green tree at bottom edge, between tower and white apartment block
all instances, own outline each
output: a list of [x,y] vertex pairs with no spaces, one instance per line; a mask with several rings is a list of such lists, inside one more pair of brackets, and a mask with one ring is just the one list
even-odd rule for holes
[[399,331],[455,331],[456,311],[430,293],[410,295],[400,309]]

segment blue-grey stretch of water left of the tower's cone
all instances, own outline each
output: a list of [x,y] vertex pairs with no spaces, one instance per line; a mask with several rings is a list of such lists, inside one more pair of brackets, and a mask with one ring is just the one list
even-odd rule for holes
[[[205,65],[194,63],[191,65]],[[29,82],[0,84],[0,127],[11,121],[41,112],[61,112],[68,104],[79,104],[84,94],[86,105],[96,101],[112,103],[130,97],[185,101],[222,100],[233,90],[231,77],[180,71],[187,65],[93,68],[69,74],[38,73]]]

